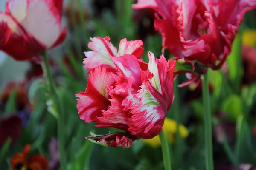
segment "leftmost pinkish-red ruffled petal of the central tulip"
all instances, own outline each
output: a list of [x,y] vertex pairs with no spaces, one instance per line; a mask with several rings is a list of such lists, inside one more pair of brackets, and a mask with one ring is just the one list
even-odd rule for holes
[[78,114],[85,122],[98,122],[97,117],[102,116],[102,110],[107,110],[110,101],[108,100],[107,86],[114,83],[113,76],[105,68],[96,68],[91,72],[87,80],[85,92],[76,94]]

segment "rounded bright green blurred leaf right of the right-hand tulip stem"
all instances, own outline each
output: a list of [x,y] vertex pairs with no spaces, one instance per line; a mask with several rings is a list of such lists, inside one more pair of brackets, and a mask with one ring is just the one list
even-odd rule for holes
[[236,120],[239,115],[244,113],[243,102],[239,96],[233,94],[224,100],[221,110],[228,113],[231,119]]

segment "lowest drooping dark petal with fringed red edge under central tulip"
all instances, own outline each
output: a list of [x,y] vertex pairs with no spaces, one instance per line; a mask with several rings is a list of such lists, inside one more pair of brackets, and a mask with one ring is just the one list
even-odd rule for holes
[[109,133],[107,135],[95,135],[91,133],[92,136],[84,137],[84,139],[88,139],[93,143],[100,144],[102,146],[111,146],[111,147],[122,147],[130,148],[131,144],[134,140],[138,138],[136,136],[132,136],[129,133],[125,132],[116,132]]

